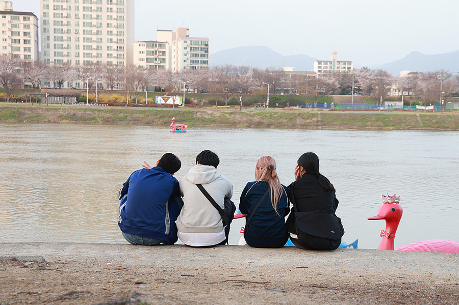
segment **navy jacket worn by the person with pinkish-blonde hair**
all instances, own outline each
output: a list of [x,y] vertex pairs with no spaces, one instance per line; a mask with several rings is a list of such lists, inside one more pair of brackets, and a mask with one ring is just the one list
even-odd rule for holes
[[[284,191],[277,202],[277,212],[280,216],[274,211],[271,204],[271,196],[268,193],[268,196],[265,197],[250,219],[250,223],[245,225],[244,238],[247,243],[278,245],[287,242],[289,233],[285,226],[284,217],[290,212],[289,189],[284,185],[282,187]],[[264,181],[249,182],[244,187],[240,198],[239,210],[241,213],[247,214],[246,221],[248,221],[253,209],[260,202],[268,188],[269,184]]]

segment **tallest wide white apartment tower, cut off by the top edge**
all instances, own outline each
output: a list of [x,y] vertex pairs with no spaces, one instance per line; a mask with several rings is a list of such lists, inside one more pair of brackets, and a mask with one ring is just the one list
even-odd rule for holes
[[134,0],[40,0],[45,63],[133,63]]

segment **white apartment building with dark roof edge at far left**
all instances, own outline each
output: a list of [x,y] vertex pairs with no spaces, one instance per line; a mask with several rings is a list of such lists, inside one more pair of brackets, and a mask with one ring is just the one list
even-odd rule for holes
[[38,61],[38,18],[33,13],[15,12],[11,1],[0,1],[0,53]]

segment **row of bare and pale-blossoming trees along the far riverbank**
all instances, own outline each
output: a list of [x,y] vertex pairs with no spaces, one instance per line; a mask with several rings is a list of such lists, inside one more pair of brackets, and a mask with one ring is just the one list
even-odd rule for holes
[[370,96],[377,103],[390,95],[391,91],[396,95],[418,96],[435,102],[441,92],[443,97],[451,97],[459,85],[459,75],[444,70],[395,77],[385,70],[364,67],[317,77],[315,73],[288,72],[282,68],[263,70],[227,64],[172,73],[134,65],[49,65],[17,59],[9,54],[0,55],[0,90],[8,101],[24,84],[34,89],[43,88],[43,84],[48,82],[52,88],[95,90],[98,79],[101,79],[97,82],[100,86],[98,89],[129,90],[136,100],[141,92],[151,87],[172,94],[179,93],[186,86],[188,92],[208,93],[210,103],[222,99],[225,104],[234,97],[242,104],[247,94],[259,95],[263,100],[268,94],[266,84],[269,84],[269,95],[284,94],[288,96],[287,101],[289,96],[300,95],[305,102],[316,104],[325,95],[350,95],[352,92]]

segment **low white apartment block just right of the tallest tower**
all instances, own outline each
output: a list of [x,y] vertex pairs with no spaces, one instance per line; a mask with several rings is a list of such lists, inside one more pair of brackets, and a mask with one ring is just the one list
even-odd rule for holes
[[154,70],[169,69],[169,43],[153,40],[134,42],[134,65]]

